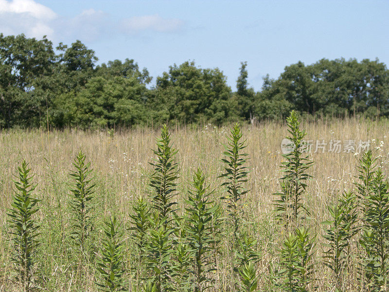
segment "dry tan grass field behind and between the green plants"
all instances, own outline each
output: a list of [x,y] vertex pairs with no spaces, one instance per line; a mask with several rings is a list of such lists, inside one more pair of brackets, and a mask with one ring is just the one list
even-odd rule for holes
[[[345,120],[302,121],[301,128],[307,131],[307,140],[372,141],[371,148],[379,157],[379,164],[388,173],[389,162],[389,122]],[[178,149],[177,162],[180,168],[178,194],[175,199],[178,213],[182,213],[187,197],[188,183],[192,180],[193,170],[200,166],[206,175],[206,182],[215,192],[214,201],[220,201],[224,189],[220,187],[223,172],[221,162],[223,144],[227,142],[229,127],[216,128],[213,125],[191,128],[171,127],[171,139]],[[248,147],[248,182],[249,189],[243,202],[243,228],[251,237],[257,239],[256,250],[260,260],[256,263],[258,275],[257,291],[274,291],[270,281],[269,267],[279,261],[278,248],[281,246],[283,231],[276,224],[272,214],[273,193],[280,190],[278,179],[281,177],[279,165],[283,161],[281,141],[287,133],[287,127],[279,122],[264,122],[255,126],[243,126],[243,137]],[[81,149],[91,162],[93,181],[96,183],[96,195],[93,200],[93,212],[96,215],[96,230],[101,229],[104,218],[115,214],[121,225],[130,227],[129,215],[136,198],[147,195],[148,175],[159,129],[131,129],[115,131],[64,131],[7,130],[0,132],[0,291],[20,291],[18,284],[9,274],[13,270],[10,261],[10,238],[7,223],[7,208],[10,208],[17,173],[17,166],[25,159],[35,174],[37,184],[35,197],[41,199],[39,211],[35,214],[41,225],[39,240],[41,245],[36,253],[36,278],[43,291],[96,291],[96,269],[93,261],[85,265],[77,262],[75,248],[71,247],[69,230],[69,171],[72,161]],[[381,141],[383,143],[381,143]],[[343,148],[342,148],[343,151]],[[325,153],[310,154],[314,161],[308,173],[313,179],[308,181],[304,204],[310,210],[309,221],[311,233],[316,235],[314,250],[315,273],[310,289],[315,291],[332,290],[331,271],[323,265],[321,245],[324,226],[322,221],[328,219],[327,205],[334,202],[344,190],[354,188],[357,175],[356,164],[360,153]],[[212,200],[212,201],[213,201]],[[99,237],[102,240],[101,237]],[[124,232],[125,257],[124,278],[129,291],[137,287],[137,279],[129,268],[135,265],[131,261],[134,253],[133,242],[128,232]],[[214,286],[209,291],[235,291],[231,270],[232,252],[228,238],[224,238],[217,247],[218,253],[212,256],[216,271],[211,273]],[[97,246],[101,242],[97,242]],[[357,252],[355,252],[357,253]],[[357,259],[354,258],[354,267]],[[80,273],[80,269],[83,273]],[[357,291],[357,269],[344,279],[344,291]]]

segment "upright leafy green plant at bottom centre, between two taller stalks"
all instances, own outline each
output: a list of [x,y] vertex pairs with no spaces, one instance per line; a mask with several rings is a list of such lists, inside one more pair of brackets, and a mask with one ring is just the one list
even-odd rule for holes
[[[200,168],[193,175],[192,189],[188,192],[188,207],[185,208],[184,220],[187,222],[187,240],[194,253],[194,291],[207,290],[212,282],[208,276],[214,270],[210,256],[215,240],[212,236],[212,217],[217,206],[211,206],[210,193],[204,183],[205,177]],[[209,266],[211,265],[211,268]]]

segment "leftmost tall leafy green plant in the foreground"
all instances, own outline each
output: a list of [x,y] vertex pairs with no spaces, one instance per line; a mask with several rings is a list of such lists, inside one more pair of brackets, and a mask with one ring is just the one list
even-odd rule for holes
[[15,264],[15,276],[23,286],[23,292],[36,288],[34,277],[35,252],[39,243],[39,225],[33,215],[39,210],[38,199],[33,197],[36,185],[32,183],[30,168],[23,160],[18,167],[18,179],[14,181],[16,190],[12,196],[11,208],[8,210],[10,223],[11,245],[13,248],[12,261]]

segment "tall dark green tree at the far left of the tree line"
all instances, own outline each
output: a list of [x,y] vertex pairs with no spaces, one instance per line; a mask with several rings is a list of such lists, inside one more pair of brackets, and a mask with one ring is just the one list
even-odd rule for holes
[[52,42],[0,34],[0,127],[37,126],[45,98],[34,93],[50,75],[55,54]]

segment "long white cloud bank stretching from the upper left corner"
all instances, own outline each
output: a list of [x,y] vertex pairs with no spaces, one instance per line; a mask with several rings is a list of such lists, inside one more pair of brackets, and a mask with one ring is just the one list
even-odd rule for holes
[[25,34],[38,39],[47,36],[54,42],[91,42],[116,33],[136,34],[144,31],[169,33],[183,28],[178,18],[158,14],[113,20],[101,11],[88,9],[73,18],[56,14],[36,0],[0,0],[0,32],[4,35]]

